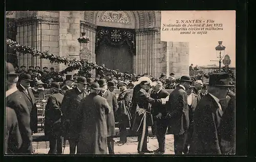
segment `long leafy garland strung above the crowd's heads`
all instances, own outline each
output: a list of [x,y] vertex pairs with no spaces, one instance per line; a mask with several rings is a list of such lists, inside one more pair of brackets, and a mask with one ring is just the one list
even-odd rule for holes
[[[68,72],[72,72],[75,70],[79,70],[78,72],[79,75],[91,77],[91,73],[90,73],[91,70],[97,70],[100,74],[111,73],[112,75],[121,77],[122,79],[136,80],[136,75],[134,74],[120,73],[115,70],[109,70],[108,68],[99,66],[94,62],[84,62],[82,60],[76,60],[76,59],[71,59],[71,58],[62,57],[62,56],[55,56],[53,54],[50,54],[49,51],[39,52],[33,47],[19,44],[16,41],[13,41],[11,39],[6,39],[6,43],[7,45],[9,45],[10,49],[14,50],[14,52],[17,53],[18,56],[31,54],[34,57],[48,59],[51,63],[63,63],[65,65],[68,65],[68,67],[65,70],[56,72],[56,76],[58,77],[64,76]],[[211,73],[217,73],[217,72],[228,73],[230,75],[231,80],[233,81],[236,78],[231,68],[222,67],[221,70],[218,69],[209,73],[203,73],[203,74],[197,74],[197,75],[191,76],[191,80],[193,81],[203,80],[204,77],[209,78],[209,75]],[[179,81],[180,81],[180,78],[177,78],[176,80],[170,80],[168,78],[163,80],[163,82],[165,82],[166,84],[179,83]]]

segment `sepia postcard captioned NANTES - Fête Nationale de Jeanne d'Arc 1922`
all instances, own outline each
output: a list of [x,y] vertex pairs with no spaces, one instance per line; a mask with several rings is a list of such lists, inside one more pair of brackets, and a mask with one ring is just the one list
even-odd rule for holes
[[5,153],[236,154],[236,11],[6,11]]

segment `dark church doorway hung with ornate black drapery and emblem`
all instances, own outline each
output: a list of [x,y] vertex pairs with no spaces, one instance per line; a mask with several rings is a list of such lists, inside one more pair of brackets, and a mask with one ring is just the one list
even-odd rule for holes
[[96,33],[96,63],[132,74],[133,55],[136,53],[135,30],[98,26]]

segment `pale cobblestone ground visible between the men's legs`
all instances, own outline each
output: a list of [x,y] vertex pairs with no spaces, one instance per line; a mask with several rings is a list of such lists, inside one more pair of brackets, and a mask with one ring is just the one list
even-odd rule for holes
[[[172,134],[166,134],[165,137],[166,137],[165,154],[174,154],[174,136]],[[127,137],[127,143],[125,143],[122,146],[118,146],[117,141],[119,141],[119,137],[114,138],[114,140],[115,140],[115,146],[114,146],[115,154],[138,154],[137,153],[137,146],[138,146],[137,137]],[[64,154],[69,154],[68,141],[66,146],[67,147],[65,148]],[[48,151],[50,150],[49,141],[33,142],[33,147],[35,149],[35,154],[47,154]],[[152,151],[158,149],[157,139],[149,137],[147,148],[148,150],[152,150]]]

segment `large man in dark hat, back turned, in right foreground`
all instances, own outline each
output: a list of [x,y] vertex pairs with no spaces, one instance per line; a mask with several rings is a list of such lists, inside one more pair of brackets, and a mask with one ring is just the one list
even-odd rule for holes
[[221,154],[220,122],[223,114],[222,101],[226,100],[229,75],[213,73],[206,84],[208,94],[198,103],[194,115],[193,140],[190,154]]

